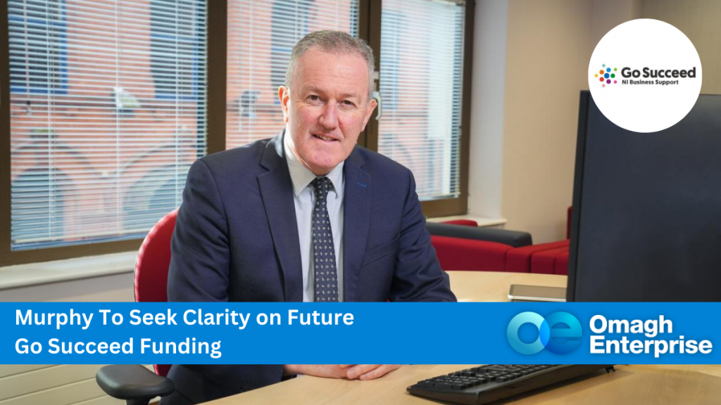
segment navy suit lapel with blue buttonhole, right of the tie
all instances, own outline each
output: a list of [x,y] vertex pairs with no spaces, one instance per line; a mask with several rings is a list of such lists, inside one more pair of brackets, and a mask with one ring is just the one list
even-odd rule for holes
[[371,221],[371,175],[362,167],[363,159],[354,149],[343,166],[343,296],[348,302],[355,301],[357,295],[358,274],[366,253]]

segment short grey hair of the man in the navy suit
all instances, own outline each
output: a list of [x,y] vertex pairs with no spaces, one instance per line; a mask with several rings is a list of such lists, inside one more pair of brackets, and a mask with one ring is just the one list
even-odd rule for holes
[[296,43],[291,52],[291,61],[288,62],[288,70],[286,70],[286,86],[288,89],[291,88],[291,81],[298,65],[298,59],[311,48],[319,48],[319,50],[327,53],[355,53],[362,56],[368,65],[368,100],[373,97],[373,71],[375,70],[373,50],[366,41],[352,37],[342,31],[311,32]]

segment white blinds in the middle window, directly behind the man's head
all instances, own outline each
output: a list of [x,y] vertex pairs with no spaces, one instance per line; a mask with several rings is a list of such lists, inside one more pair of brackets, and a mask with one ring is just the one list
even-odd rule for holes
[[358,0],[229,0],[226,147],[283,129],[278,86],[293,45],[309,32],[358,33]]

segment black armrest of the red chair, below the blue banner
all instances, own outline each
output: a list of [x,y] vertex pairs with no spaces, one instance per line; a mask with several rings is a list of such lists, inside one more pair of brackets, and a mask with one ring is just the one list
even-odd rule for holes
[[95,380],[107,395],[128,400],[128,403],[147,403],[156,396],[167,396],[175,391],[172,380],[137,364],[106,365],[97,370]]

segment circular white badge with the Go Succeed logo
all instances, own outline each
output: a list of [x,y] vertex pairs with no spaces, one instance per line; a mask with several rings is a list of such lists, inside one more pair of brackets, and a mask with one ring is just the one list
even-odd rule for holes
[[701,60],[673,25],[634,19],[609,31],[588,64],[593,101],[619,127],[640,133],[681,121],[701,92]]

